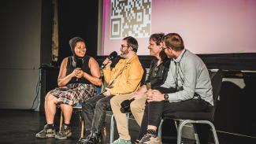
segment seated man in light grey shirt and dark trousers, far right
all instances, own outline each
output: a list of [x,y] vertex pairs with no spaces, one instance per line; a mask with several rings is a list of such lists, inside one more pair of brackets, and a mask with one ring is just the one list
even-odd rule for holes
[[147,91],[147,105],[139,134],[140,138],[143,136],[141,144],[161,143],[157,128],[162,115],[180,111],[203,112],[213,106],[212,85],[206,65],[198,56],[184,49],[180,35],[165,35],[162,49],[173,61],[161,88]]

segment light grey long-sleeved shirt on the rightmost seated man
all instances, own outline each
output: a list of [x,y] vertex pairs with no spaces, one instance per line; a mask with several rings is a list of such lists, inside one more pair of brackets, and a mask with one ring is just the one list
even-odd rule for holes
[[206,65],[200,57],[189,50],[183,50],[179,57],[170,63],[168,76],[161,87],[183,87],[176,93],[169,94],[169,102],[182,102],[199,94],[213,105],[213,91]]

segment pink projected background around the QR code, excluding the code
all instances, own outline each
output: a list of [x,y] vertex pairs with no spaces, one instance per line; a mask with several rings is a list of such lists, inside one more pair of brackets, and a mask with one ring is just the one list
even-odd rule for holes
[[[152,0],[151,9],[151,34],[179,33],[195,54],[256,52],[254,0]],[[104,10],[102,55],[108,55],[119,51],[121,39],[109,39],[110,0]],[[149,54],[148,38],[138,41],[138,54]]]

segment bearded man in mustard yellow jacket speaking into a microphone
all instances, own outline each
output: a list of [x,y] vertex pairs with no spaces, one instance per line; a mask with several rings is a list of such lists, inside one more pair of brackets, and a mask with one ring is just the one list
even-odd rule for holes
[[136,55],[138,42],[131,36],[121,42],[121,60],[111,69],[112,61],[106,58],[103,64],[104,79],[108,84],[103,94],[83,102],[83,121],[85,130],[91,132],[80,143],[101,143],[101,131],[106,117],[106,109],[110,108],[110,99],[120,94],[129,94],[139,89],[143,77],[143,67]]

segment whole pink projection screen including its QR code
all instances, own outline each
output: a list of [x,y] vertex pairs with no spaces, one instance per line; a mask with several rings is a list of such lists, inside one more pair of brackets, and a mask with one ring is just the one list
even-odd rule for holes
[[103,0],[98,55],[119,52],[134,36],[139,55],[148,55],[153,33],[176,32],[195,54],[256,52],[254,0]]

